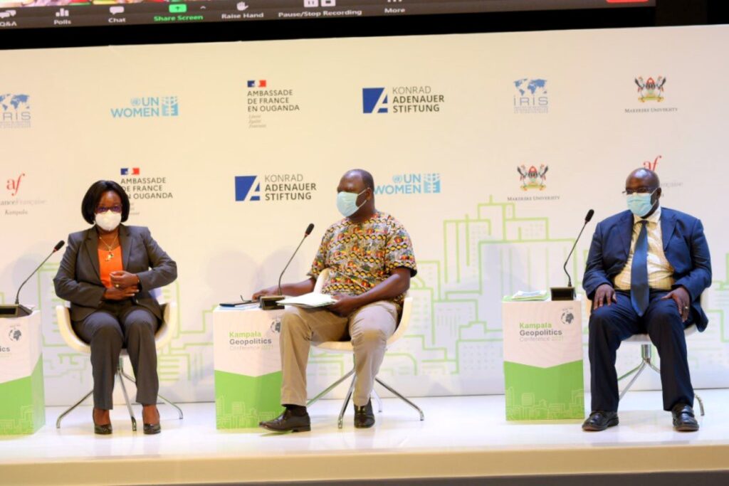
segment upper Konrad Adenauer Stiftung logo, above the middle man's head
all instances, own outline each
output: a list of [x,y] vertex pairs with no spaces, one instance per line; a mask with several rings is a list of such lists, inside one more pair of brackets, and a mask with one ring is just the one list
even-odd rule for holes
[[363,87],[362,113],[437,113],[445,104],[445,95],[431,86]]

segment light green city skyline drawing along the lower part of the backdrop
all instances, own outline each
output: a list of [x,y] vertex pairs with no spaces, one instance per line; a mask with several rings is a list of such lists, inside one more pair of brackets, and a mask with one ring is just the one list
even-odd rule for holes
[[[442,389],[448,391],[459,385],[459,377],[467,380],[484,372],[502,373],[502,297],[519,289],[547,289],[550,275],[561,272],[561,262],[574,243],[572,238],[553,238],[547,217],[520,217],[518,208],[518,203],[495,202],[490,197],[464,216],[442,222],[443,259],[418,261],[418,275],[410,287],[410,329],[387,353],[380,373],[383,380],[429,376],[443,380]],[[580,258],[569,266],[578,288],[585,257],[586,250],[582,250]],[[715,259],[714,269],[720,264],[729,275],[729,254],[723,261]],[[57,270],[57,263],[44,264],[35,278],[37,308],[43,318],[47,394],[52,388],[63,389],[69,381],[89,387],[91,383],[88,356],[71,350],[58,332],[55,306],[65,302],[53,291],[52,278]],[[192,393],[212,398],[214,305],[198,314],[198,319],[185,319],[190,313],[185,311],[182,289],[184,283],[179,281],[163,289],[165,299],[178,304],[179,329],[171,345],[158,353],[160,382],[171,390],[180,382],[196,388],[203,385]],[[725,325],[729,281],[714,281],[708,292],[705,310],[709,327],[688,339],[690,364],[697,371],[709,362],[729,361],[729,329]],[[0,293],[0,301],[6,301],[4,293]],[[586,313],[582,328],[586,337]],[[331,381],[350,368],[351,356],[311,350],[308,377],[312,381]],[[175,396],[166,390],[163,393]],[[190,392],[181,393],[189,396]]]

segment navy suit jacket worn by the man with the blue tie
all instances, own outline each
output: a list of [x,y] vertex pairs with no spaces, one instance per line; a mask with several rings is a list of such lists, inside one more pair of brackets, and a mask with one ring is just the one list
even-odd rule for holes
[[[623,211],[599,222],[588,254],[582,288],[592,300],[603,283],[614,286],[615,276],[628,261],[633,239],[633,213]],[[663,253],[674,267],[674,286],[684,287],[691,298],[690,321],[699,331],[709,321],[701,309],[701,292],[712,284],[712,259],[701,221],[673,209],[661,208]]]

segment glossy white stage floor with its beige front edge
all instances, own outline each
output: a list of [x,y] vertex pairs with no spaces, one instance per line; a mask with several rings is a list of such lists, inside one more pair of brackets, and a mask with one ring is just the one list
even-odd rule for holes
[[[312,431],[217,431],[212,403],[182,404],[185,418],[160,405],[162,434],[131,431],[125,407],[112,412],[114,434],[95,436],[91,408],[55,428],[60,407],[32,436],[0,437],[0,484],[135,485],[335,479],[496,477],[729,469],[729,390],[699,391],[701,430],[674,432],[659,391],[633,391],[620,426],[585,433],[580,420],[507,423],[504,396],[416,399],[425,412],[384,399],[374,428],[339,430],[341,402],[311,410]],[[587,397],[589,403],[589,396]],[[698,403],[697,403],[698,405]],[[136,407],[141,415],[141,409]],[[697,408],[698,413],[698,408]],[[138,415],[139,417],[139,415]]]

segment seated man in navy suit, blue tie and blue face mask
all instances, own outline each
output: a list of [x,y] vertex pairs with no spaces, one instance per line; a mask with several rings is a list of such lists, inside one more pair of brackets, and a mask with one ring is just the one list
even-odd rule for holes
[[693,386],[686,358],[686,326],[706,329],[699,298],[712,283],[701,221],[661,208],[658,175],[647,169],[625,181],[628,211],[600,222],[582,287],[592,300],[590,385],[592,412],[582,429],[617,426],[615,352],[633,334],[647,333],[660,354],[663,409],[677,431],[696,431]]

